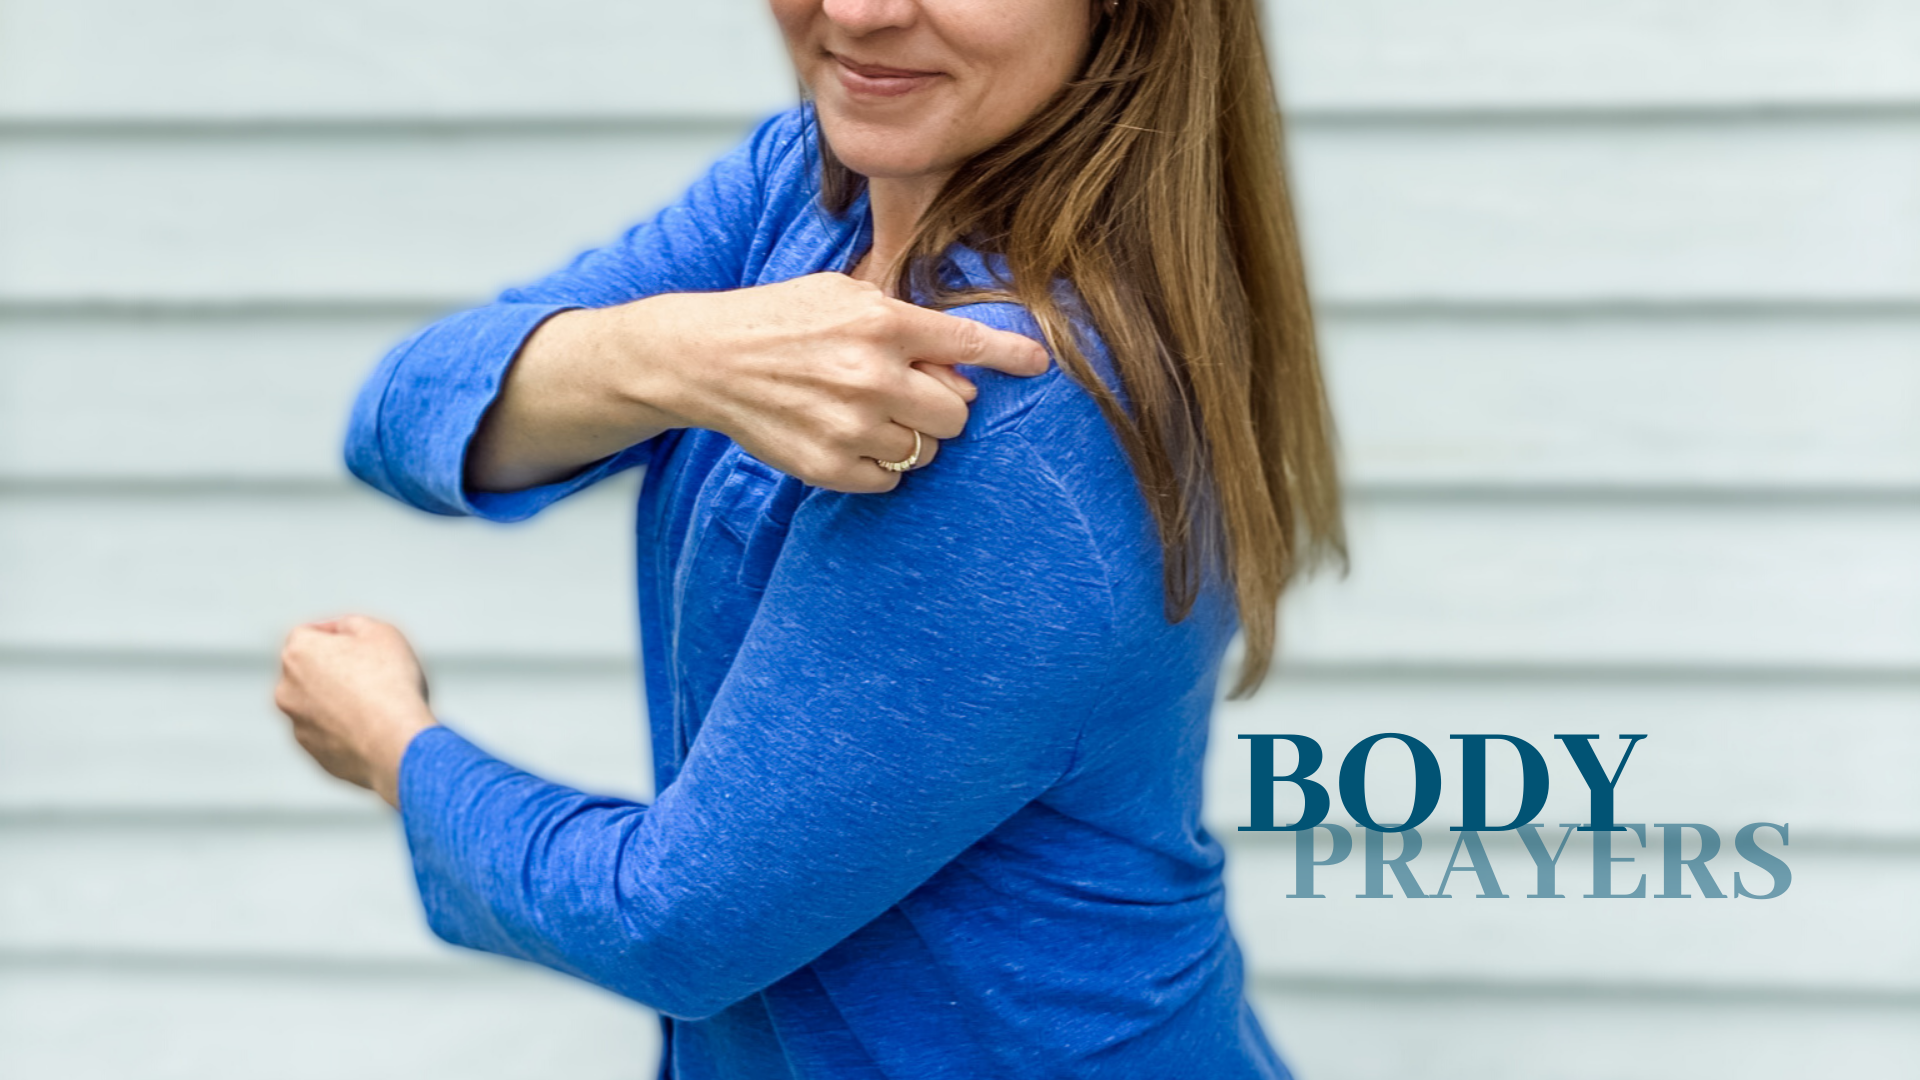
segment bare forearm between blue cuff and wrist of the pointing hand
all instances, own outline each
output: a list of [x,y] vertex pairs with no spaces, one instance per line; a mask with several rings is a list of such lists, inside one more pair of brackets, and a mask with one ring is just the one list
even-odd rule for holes
[[687,421],[674,411],[684,327],[664,296],[561,311],[528,336],[467,448],[467,486],[515,492]]

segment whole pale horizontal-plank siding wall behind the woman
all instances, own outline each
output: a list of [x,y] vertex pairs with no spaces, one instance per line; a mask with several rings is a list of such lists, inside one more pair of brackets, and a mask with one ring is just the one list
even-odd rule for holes
[[[1920,6],[1273,15],[1356,573],[1219,713],[1271,1030],[1306,1080],[1920,1076]],[[789,94],[743,0],[0,0],[0,1074],[651,1074],[639,1009],[428,940],[273,651],[396,617],[478,738],[645,794],[632,484],[436,521],[338,434]],[[1233,738],[1283,730],[1649,732],[1622,819],[1789,821],[1795,886],[1283,899]]]

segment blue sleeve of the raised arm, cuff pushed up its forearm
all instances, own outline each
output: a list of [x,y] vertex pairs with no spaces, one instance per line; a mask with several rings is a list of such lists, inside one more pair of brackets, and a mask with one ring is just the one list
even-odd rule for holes
[[520,346],[541,323],[574,307],[741,286],[766,175],[801,135],[797,113],[766,121],[678,202],[612,244],[403,340],[353,402],[348,469],[419,509],[520,521],[595,480],[643,465],[651,440],[522,492],[482,494],[465,484],[467,446]]

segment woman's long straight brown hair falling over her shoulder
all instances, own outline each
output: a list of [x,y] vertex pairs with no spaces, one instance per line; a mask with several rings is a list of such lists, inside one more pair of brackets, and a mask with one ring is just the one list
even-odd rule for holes
[[[822,196],[864,179],[820,140]],[[1165,615],[1202,578],[1233,582],[1246,655],[1229,698],[1267,676],[1281,592],[1346,561],[1332,419],[1283,165],[1256,0],[1119,0],[1085,75],[947,183],[899,263],[897,292],[950,307],[954,244],[1000,254],[1066,371],[1114,427],[1160,532]],[[1098,379],[1052,282],[1068,281],[1135,415]]]

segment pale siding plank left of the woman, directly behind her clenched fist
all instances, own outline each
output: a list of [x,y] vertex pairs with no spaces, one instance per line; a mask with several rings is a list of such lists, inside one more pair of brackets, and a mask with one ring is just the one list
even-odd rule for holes
[[[637,673],[432,665],[434,709],[490,751],[589,792],[649,798]],[[0,811],[372,813],[273,707],[275,665],[0,663]]]

